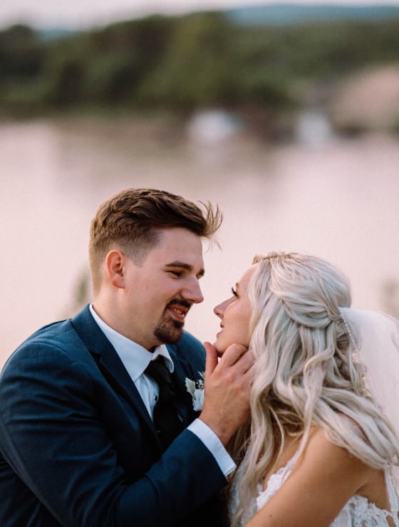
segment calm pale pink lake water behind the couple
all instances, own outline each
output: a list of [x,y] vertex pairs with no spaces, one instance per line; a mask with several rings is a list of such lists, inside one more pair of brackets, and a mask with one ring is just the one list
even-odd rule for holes
[[[320,125],[320,123],[319,123]],[[388,135],[267,145],[242,135],[216,145],[145,120],[0,124],[0,362],[40,325],[73,311],[88,268],[90,219],[126,187],[217,202],[224,224],[205,254],[205,301],[187,329],[212,340],[212,313],[254,254],[306,251],[353,284],[353,304],[383,308],[399,280],[399,141]]]

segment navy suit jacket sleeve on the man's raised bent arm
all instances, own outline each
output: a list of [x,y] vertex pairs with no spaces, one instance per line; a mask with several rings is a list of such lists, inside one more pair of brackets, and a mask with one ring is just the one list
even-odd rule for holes
[[53,345],[26,348],[1,377],[0,447],[61,525],[170,526],[224,486],[214,457],[188,430],[128,482],[102,426],[93,378]]

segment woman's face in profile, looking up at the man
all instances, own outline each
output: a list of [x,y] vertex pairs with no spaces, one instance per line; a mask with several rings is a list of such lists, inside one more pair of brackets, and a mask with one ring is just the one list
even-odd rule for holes
[[257,264],[245,271],[244,275],[232,288],[232,296],[214,308],[214,313],[222,322],[222,328],[216,335],[214,347],[222,355],[230,344],[249,346],[249,320],[252,307],[248,298],[249,280]]

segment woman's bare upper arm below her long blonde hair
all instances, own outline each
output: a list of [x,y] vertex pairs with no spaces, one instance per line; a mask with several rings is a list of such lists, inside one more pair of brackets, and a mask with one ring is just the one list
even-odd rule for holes
[[327,527],[372,471],[317,429],[292,474],[247,527]]

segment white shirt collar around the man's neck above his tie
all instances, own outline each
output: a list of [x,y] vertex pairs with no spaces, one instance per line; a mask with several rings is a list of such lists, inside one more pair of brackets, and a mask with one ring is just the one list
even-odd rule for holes
[[123,365],[126,370],[128,370],[130,377],[132,377],[133,382],[138,380],[138,377],[145,372],[145,369],[150,364],[151,360],[155,360],[158,356],[161,356],[165,359],[165,364],[167,369],[172,373],[175,370],[173,361],[170,358],[169,352],[165,344],[157,346],[153,352],[150,352],[143,348],[140,344],[135,343],[130,338],[125,337],[111,328],[108,324],[104,322],[102,318],[95,313],[93,304],[90,304],[90,313],[93,315],[95,322],[100,327],[100,330],[103,331],[105,337],[108,338],[110,343],[115,348],[116,353],[118,353],[120,360],[122,360]]

